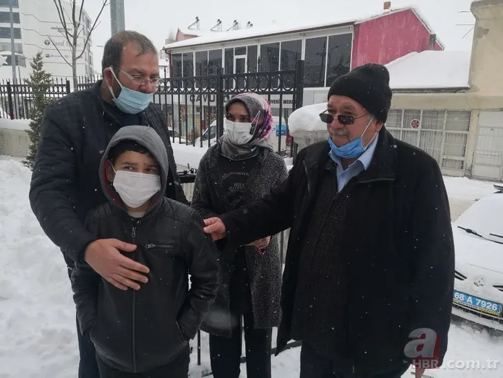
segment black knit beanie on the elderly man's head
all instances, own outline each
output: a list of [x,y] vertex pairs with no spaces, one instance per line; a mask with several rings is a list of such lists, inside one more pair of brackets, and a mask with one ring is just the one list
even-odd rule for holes
[[392,96],[389,72],[380,64],[367,63],[333,81],[328,99],[334,94],[355,100],[385,123]]

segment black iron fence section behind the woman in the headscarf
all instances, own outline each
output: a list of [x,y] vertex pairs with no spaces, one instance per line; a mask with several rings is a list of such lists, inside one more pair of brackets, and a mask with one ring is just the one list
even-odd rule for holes
[[196,77],[166,77],[154,94],[167,119],[173,142],[211,146],[223,133],[224,104],[242,92],[256,92],[271,104],[271,144],[280,155],[295,155],[288,117],[302,106],[304,61],[295,70]]

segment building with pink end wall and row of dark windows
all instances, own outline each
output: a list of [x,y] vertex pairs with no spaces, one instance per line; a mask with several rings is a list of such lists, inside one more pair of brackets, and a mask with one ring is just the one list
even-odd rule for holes
[[[164,48],[171,77],[216,75],[219,68],[225,74],[295,70],[298,60],[303,60],[304,103],[313,103],[316,95],[326,95],[334,79],[367,61],[385,64],[409,52],[443,50],[415,8],[386,9],[367,19],[282,30],[274,26],[227,32],[178,30],[176,39]],[[274,116],[279,116],[282,108],[282,117],[288,118],[291,97],[283,97],[281,104],[274,96],[269,101]],[[176,103],[176,109],[178,105],[197,108]],[[214,114],[214,109],[205,109],[201,114],[207,112]],[[199,113],[198,109],[194,111]]]

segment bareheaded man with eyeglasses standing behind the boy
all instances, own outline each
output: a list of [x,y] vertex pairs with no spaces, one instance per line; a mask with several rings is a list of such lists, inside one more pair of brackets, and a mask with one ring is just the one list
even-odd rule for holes
[[[84,226],[88,212],[107,202],[97,172],[119,128],[144,125],[156,130],[170,161],[165,196],[188,202],[176,175],[166,117],[152,103],[159,82],[152,41],[132,31],[115,34],[105,44],[102,73],[103,80],[92,88],[68,94],[45,110],[30,203],[45,234],[61,248],[69,275],[76,262],[85,261],[116,288],[138,290],[147,282],[148,268],[134,261],[136,246],[96,240]],[[77,335],[79,377],[98,378],[94,346],[78,324]]]

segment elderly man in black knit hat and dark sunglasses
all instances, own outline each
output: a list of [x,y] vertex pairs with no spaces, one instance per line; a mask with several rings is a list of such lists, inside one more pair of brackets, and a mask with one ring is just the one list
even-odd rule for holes
[[301,378],[398,378],[411,364],[422,377],[446,353],[449,201],[438,163],[386,130],[391,97],[384,66],[342,75],[320,114],[328,140],[264,199],[205,220],[231,243],[291,228],[276,353],[301,340]]

